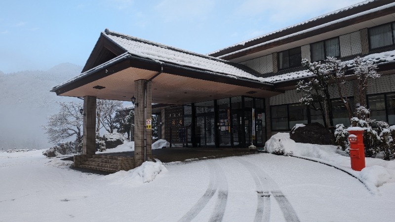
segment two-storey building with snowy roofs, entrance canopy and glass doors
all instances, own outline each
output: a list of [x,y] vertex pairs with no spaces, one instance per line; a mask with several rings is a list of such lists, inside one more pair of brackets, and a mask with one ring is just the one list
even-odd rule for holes
[[[322,122],[299,103],[296,82],[312,75],[301,66],[303,58],[348,61],[361,56],[377,63],[382,77],[373,81],[366,98],[358,97],[352,76],[347,96],[354,105],[366,99],[372,117],[395,124],[394,12],[391,0],[368,0],[208,55],[106,29],[82,74],[52,91],[84,98],[83,150],[89,155],[94,154],[95,118],[90,114],[96,98],[130,101],[134,96],[135,165],[146,159],[139,150],[151,144],[144,127],[152,113],[160,115],[161,137],[184,147],[245,148],[253,125],[259,147],[296,123]],[[333,121],[347,123],[336,95],[333,89]]]

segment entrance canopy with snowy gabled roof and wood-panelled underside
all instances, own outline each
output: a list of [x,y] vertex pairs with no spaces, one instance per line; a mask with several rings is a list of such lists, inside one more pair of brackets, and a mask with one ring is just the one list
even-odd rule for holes
[[82,72],[51,91],[60,96],[130,101],[134,81],[146,79],[152,81],[153,103],[178,105],[281,93],[246,66],[107,29]]

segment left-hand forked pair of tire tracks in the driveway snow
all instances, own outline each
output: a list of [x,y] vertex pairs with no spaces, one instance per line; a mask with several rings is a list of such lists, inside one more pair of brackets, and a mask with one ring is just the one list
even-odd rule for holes
[[[214,161],[205,161],[210,173],[210,181],[206,192],[196,204],[179,220],[179,222],[192,221],[200,211],[207,205],[218,189],[218,199],[215,204],[210,221],[222,221],[225,214],[226,202],[228,199],[228,182],[222,168]],[[219,187],[219,188],[218,188]]]

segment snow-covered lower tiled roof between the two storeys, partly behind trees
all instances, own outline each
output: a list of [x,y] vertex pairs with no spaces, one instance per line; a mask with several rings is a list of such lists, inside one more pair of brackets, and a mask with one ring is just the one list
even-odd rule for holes
[[[363,57],[362,61],[363,62],[370,61],[370,62],[380,64],[380,65],[383,65],[386,63],[394,63],[395,62],[395,50],[370,54],[370,55]],[[353,69],[355,66],[354,60],[348,60],[348,61],[344,61],[344,62],[346,63],[348,69]],[[313,75],[313,73],[309,72],[308,70],[301,70],[301,71],[296,71],[296,72],[291,72],[291,73],[286,73],[286,74],[279,74],[279,75],[274,75],[274,76],[270,76],[270,77],[265,77],[263,79],[263,81],[271,82],[271,83],[279,83],[279,82],[286,82],[286,81],[302,79],[302,78],[310,77],[312,75]]]

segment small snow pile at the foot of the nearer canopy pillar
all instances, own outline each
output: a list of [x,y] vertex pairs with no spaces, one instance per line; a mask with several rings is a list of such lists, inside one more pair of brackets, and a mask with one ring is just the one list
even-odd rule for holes
[[142,185],[150,183],[160,174],[166,173],[167,169],[162,162],[145,161],[141,166],[129,171],[118,171],[103,177],[103,180],[113,181],[112,185]]

